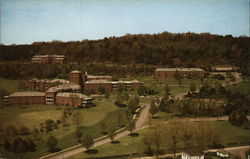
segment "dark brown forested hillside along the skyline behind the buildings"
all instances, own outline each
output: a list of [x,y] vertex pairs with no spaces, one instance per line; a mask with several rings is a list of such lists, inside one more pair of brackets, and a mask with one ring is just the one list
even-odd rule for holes
[[81,42],[35,42],[0,46],[0,61],[28,62],[35,54],[64,54],[67,63],[202,67],[236,65],[249,74],[250,38],[194,34],[139,34]]

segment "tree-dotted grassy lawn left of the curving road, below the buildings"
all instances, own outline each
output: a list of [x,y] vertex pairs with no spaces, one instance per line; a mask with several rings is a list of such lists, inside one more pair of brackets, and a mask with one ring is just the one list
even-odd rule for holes
[[[81,129],[83,134],[90,134],[93,138],[103,136],[101,133],[101,123],[105,121],[107,127],[116,127],[119,129],[117,116],[122,113],[122,125],[127,122],[124,108],[118,108],[114,105],[113,100],[97,100],[96,107],[88,109],[75,109],[83,114],[83,121]],[[54,105],[29,105],[29,106],[9,106],[0,109],[0,122],[1,127],[4,129],[7,125],[15,127],[27,126],[31,130],[35,127],[40,128],[40,123],[45,122],[47,119],[58,120],[61,119],[63,106]],[[121,113],[119,113],[121,112]],[[110,118],[112,117],[112,118]],[[77,144],[75,137],[75,125],[72,124],[71,118],[67,120],[68,126],[59,124],[57,129],[48,133],[43,132],[39,134],[38,139],[35,139],[37,151],[33,153],[26,153],[24,158],[38,158],[48,154],[46,142],[50,135],[54,135],[58,140],[58,148],[65,149]],[[20,136],[24,137],[24,136]],[[34,138],[33,135],[27,137]],[[1,141],[2,142],[2,141]],[[2,148],[1,148],[2,149]],[[2,151],[2,150],[1,150]],[[16,158],[17,156],[0,152],[8,158]]]

